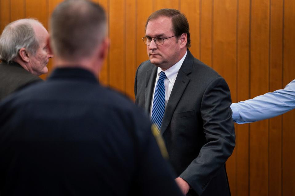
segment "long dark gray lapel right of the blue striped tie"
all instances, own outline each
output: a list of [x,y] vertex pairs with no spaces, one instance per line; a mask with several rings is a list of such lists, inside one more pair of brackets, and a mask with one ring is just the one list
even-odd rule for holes
[[192,68],[193,68],[193,55],[188,50],[185,60],[182,63],[180,70],[178,71],[172,92],[170,94],[167,106],[165,108],[165,113],[164,113],[161,130],[160,130],[162,135],[167,129],[169,123],[171,122],[174,110],[186,86],[189,83],[190,79],[187,75],[192,72]]

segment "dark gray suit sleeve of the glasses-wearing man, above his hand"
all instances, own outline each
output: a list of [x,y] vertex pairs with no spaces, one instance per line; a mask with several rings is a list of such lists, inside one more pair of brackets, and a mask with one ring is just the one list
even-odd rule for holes
[[233,152],[235,132],[230,104],[225,80],[222,77],[214,79],[204,92],[200,108],[206,143],[179,176],[199,195]]

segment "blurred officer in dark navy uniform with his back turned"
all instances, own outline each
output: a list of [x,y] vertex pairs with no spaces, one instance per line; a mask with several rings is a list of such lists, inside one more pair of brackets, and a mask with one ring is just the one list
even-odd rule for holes
[[97,81],[102,7],[64,1],[50,26],[55,70],[0,104],[0,194],[181,195],[149,118]]

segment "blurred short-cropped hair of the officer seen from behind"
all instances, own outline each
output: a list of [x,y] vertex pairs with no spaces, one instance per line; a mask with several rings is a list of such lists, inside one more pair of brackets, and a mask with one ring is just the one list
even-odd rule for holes
[[87,58],[106,36],[106,13],[91,1],[66,0],[50,18],[54,55],[71,60]]

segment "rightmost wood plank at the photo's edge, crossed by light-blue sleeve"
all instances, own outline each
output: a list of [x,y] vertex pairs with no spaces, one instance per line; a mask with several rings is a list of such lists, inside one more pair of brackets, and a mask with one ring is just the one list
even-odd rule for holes
[[[295,1],[284,0],[284,82],[295,79]],[[295,195],[295,110],[283,115],[283,195]]]

